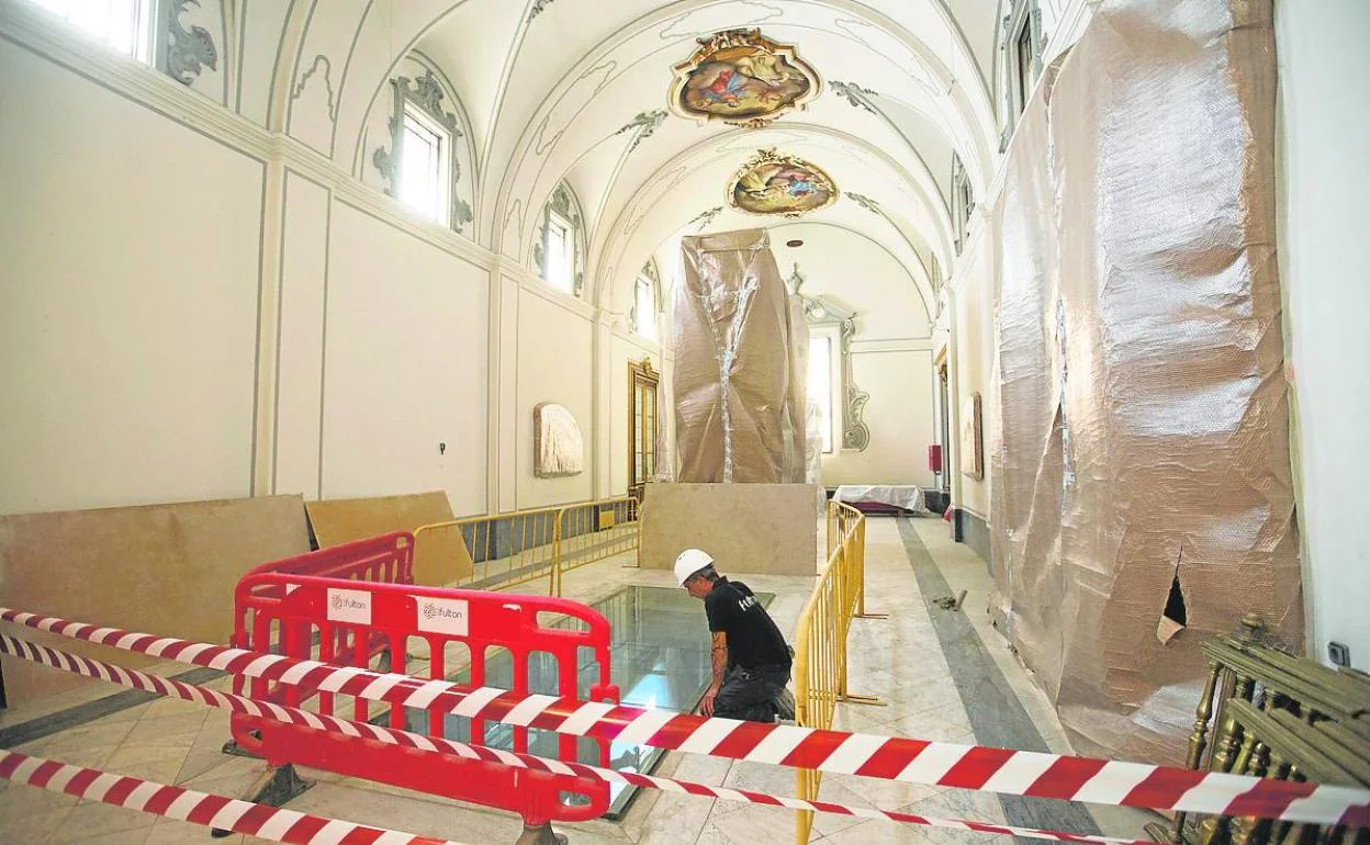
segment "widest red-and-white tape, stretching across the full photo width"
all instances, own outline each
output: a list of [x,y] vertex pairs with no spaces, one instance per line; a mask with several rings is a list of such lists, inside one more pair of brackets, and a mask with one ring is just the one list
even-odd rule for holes
[[1070,755],[706,719],[638,707],[521,696],[495,688],[337,667],[171,637],[96,627],[0,608],[0,619],[73,640],[111,645],[230,674],[333,692],[396,707],[482,718],[596,740],[771,763],[796,768],[1228,816],[1370,827],[1370,790],[1191,771]]

